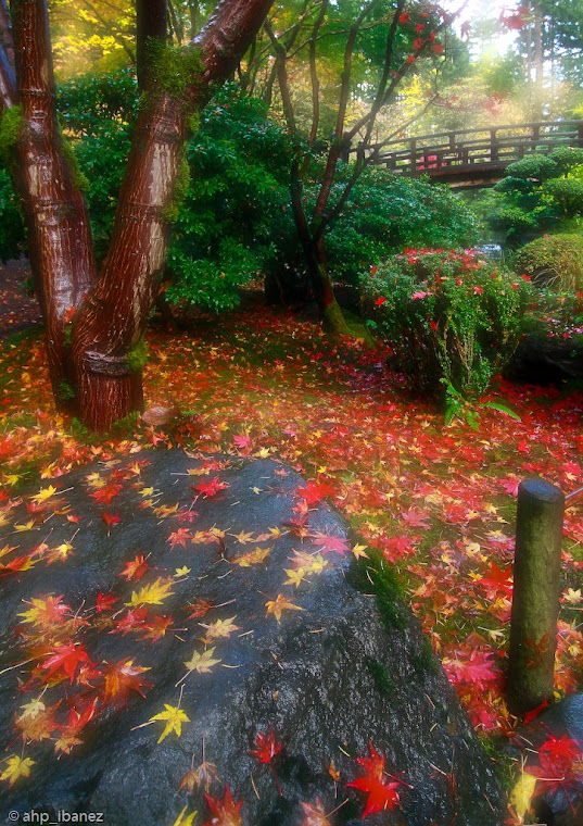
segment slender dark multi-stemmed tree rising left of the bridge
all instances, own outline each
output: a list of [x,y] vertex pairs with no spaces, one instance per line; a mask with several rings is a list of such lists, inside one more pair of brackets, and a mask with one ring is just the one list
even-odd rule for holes
[[[271,23],[266,24],[274,47],[283,116],[288,129],[294,136],[291,164],[292,212],[320,317],[325,326],[333,331],[346,333],[347,327],[327,265],[325,235],[344,209],[368,159],[365,151],[358,154],[341,188],[334,186],[339,183],[339,164],[342,159],[346,159],[353,140],[358,140],[363,150],[370,146],[379,112],[394,100],[402,79],[413,73],[419,59],[426,54],[439,58],[443,53],[443,45],[438,41],[436,35],[446,27],[449,20],[445,12],[438,15],[434,7],[408,7],[405,0],[397,0],[396,3],[371,0],[334,5],[321,0],[308,13],[300,16],[296,26],[303,28],[294,42],[301,42],[302,47],[292,47],[291,52],[289,34],[281,37]],[[329,30],[342,36],[343,54],[342,68],[335,84],[337,105],[331,134],[322,124],[317,59],[320,41]],[[375,42],[376,38],[380,42]],[[365,45],[363,48],[362,42]],[[354,88],[356,55],[366,54],[367,48],[372,48],[371,43],[382,54],[382,62],[372,73],[375,83],[367,82],[368,95],[364,113],[348,120],[351,96],[362,99],[363,92],[362,88],[356,91]],[[293,58],[302,53],[302,50],[307,52],[312,97],[310,126],[305,139],[299,127],[290,75]],[[305,198],[305,188],[306,183],[316,179],[318,193],[312,203]]]

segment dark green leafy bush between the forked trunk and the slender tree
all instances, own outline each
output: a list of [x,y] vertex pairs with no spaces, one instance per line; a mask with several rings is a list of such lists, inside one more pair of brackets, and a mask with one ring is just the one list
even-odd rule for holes
[[240,285],[281,265],[297,245],[288,206],[291,141],[266,110],[229,84],[201,115],[168,250],[170,303],[231,309]]

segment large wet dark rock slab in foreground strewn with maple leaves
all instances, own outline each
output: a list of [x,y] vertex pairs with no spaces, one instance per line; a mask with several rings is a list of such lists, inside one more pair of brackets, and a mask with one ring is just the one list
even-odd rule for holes
[[[213,479],[229,487],[219,489]],[[201,483],[216,492],[205,498],[193,490]],[[20,573],[0,570],[2,747],[7,758],[35,761],[28,778],[11,789],[0,784],[0,819],[16,811],[24,822],[33,810],[55,819],[63,810],[102,812],[109,826],[170,826],[188,804],[188,812],[199,811],[197,823],[205,823],[204,788],[179,790],[204,751],[218,776],[211,796],[223,799],[228,785],[242,801],[245,826],[300,826],[301,802],[316,798],[327,812],[347,798],[331,823],[356,826],[366,798],[345,784],[362,776],[354,759],[368,756],[371,742],[386,771],[404,781],[400,806],[371,814],[371,826],[499,826],[492,765],[419,623],[400,602],[384,604],[381,622],[371,588],[352,584],[367,577],[366,570],[355,573],[362,562],[351,553],[344,521],[319,501],[302,524],[305,498],[295,491],[305,483],[296,473],[274,460],[153,451],[52,484],[63,493],[24,497],[7,511],[0,539],[0,548],[18,546],[0,559],[3,565],[17,568],[13,561],[31,551],[29,560],[39,560]],[[31,529],[15,527],[30,521]],[[150,570],[126,581],[119,574],[138,554]],[[303,579],[294,585],[289,572],[302,560]],[[168,578],[170,596],[161,604],[140,601],[141,588],[168,585]],[[99,593],[118,601],[98,611]],[[47,595],[62,597],[69,609],[56,610],[42,629],[31,622],[38,614],[26,612]],[[301,609],[282,610],[280,622],[267,610],[279,595]],[[203,616],[192,616],[198,600],[213,605]],[[140,609],[145,618],[128,629],[128,611]],[[172,617],[164,636],[144,638],[167,622],[161,616]],[[228,620],[237,628],[218,636],[217,621],[225,628]],[[54,677],[64,678],[43,690],[38,675],[46,679],[51,656],[62,651],[55,640],[83,643],[94,665],[73,663],[68,676],[58,668]],[[193,653],[212,649],[207,656],[220,662],[187,675]],[[138,677],[150,687],[144,697],[129,691],[127,708],[104,702],[104,674],[119,662],[149,668]],[[23,706],[37,699],[46,708],[59,703],[54,728],[23,749],[15,715],[22,718]],[[189,722],[181,737],[172,733],[157,742],[163,722],[144,724],[165,703],[179,705]],[[79,733],[81,742],[56,758],[66,725],[88,709],[94,715]],[[250,754],[257,735],[271,727],[282,744],[274,759],[281,796],[269,766]],[[1,763],[0,773],[8,765]]]

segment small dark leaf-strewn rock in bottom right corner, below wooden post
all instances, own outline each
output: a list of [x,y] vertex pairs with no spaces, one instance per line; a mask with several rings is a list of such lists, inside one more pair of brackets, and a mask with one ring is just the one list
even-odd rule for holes
[[[538,750],[549,738],[569,738],[579,747],[583,764],[583,694],[572,694],[543,712],[533,723],[519,728],[512,737],[511,751],[529,765],[538,765]],[[562,775],[558,775],[559,777]],[[583,773],[573,775],[557,788],[549,788],[533,800],[536,819],[545,826],[583,824]]]

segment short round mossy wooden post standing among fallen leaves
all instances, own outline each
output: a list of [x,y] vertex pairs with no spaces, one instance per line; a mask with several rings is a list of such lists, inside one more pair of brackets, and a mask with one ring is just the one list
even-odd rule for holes
[[553,698],[565,496],[540,478],[518,488],[508,708],[522,715]]

